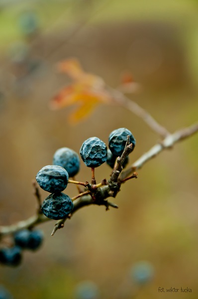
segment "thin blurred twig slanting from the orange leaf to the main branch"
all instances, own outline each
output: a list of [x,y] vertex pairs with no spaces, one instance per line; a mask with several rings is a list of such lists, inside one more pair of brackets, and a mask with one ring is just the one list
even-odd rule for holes
[[128,99],[123,93],[120,91],[113,89],[109,86],[106,87],[110,94],[113,96],[115,102],[124,108],[130,110],[132,113],[143,119],[143,121],[157,134],[159,134],[162,138],[170,135],[168,130],[161,126],[146,110],[141,108],[137,103]]

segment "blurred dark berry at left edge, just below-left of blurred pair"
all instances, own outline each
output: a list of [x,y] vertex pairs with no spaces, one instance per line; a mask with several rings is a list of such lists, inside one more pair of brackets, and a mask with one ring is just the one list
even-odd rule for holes
[[18,246],[0,249],[0,263],[6,266],[18,266],[21,263],[22,254]]

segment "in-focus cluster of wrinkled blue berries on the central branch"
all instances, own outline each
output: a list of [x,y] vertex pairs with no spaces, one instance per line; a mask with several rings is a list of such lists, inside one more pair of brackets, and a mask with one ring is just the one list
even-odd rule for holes
[[[132,133],[120,128],[114,130],[109,135],[109,150],[106,145],[98,137],[91,137],[84,141],[80,155],[86,166],[95,168],[102,163],[113,168],[116,157],[121,156],[127,141],[130,137],[130,143],[135,147],[135,138]],[[125,158],[123,167],[128,162]],[[78,154],[69,148],[57,149],[53,156],[53,165],[44,166],[38,171],[36,180],[40,187],[51,194],[45,198],[41,206],[43,214],[51,219],[63,219],[69,215],[74,204],[72,199],[62,193],[66,189],[69,177],[74,177],[80,169],[80,159]]]

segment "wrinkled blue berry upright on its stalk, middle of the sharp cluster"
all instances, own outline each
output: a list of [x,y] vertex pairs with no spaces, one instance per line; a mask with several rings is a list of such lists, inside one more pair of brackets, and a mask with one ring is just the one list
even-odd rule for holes
[[99,138],[91,137],[84,141],[80,154],[86,166],[98,167],[107,159],[107,148]]

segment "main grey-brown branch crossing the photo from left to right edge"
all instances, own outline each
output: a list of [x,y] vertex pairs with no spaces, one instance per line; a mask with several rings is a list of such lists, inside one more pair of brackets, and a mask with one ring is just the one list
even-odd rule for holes
[[[173,133],[172,135],[167,136],[161,143],[155,145],[149,151],[147,151],[145,154],[143,154],[127,170],[122,171],[120,180],[121,181],[125,180],[128,177],[128,175],[130,175],[131,172],[133,172],[136,169],[141,168],[147,161],[149,161],[151,158],[155,157],[157,154],[162,152],[164,149],[172,148],[175,143],[182,141],[197,132],[198,132],[198,123],[196,123],[195,125],[193,125],[191,127],[179,130],[179,131]],[[103,186],[99,187],[96,192],[96,200],[93,200],[93,198],[89,194],[81,196],[80,198],[77,198],[74,201],[74,208],[73,208],[73,211],[70,214],[70,216],[73,215],[80,208],[87,206],[87,205],[91,205],[91,204],[104,205],[106,208],[108,206],[117,208],[116,204],[108,202],[106,200],[106,198],[108,198],[109,196],[115,196],[117,193],[117,190],[119,190],[118,189],[119,186],[117,186],[118,183],[114,182],[114,184],[116,186],[113,184],[111,185],[109,183],[108,185],[103,185]],[[113,187],[115,187],[115,190],[116,190],[115,192],[113,191]],[[68,216],[65,219],[59,220],[59,222],[58,222],[59,224],[58,223],[56,224],[57,229],[63,227],[63,224],[66,221],[66,219],[68,218]],[[24,228],[34,227],[40,223],[43,223],[43,222],[46,222],[49,220],[51,220],[51,219],[45,217],[45,215],[37,214],[37,215],[34,215],[24,221],[20,221],[14,225],[0,226],[0,237],[9,235],[9,234],[13,234],[14,232],[24,229]],[[57,229],[55,229],[55,231]]]

